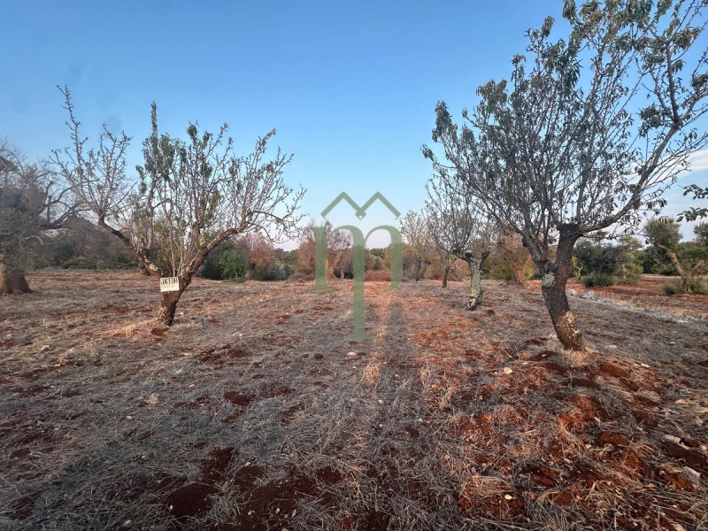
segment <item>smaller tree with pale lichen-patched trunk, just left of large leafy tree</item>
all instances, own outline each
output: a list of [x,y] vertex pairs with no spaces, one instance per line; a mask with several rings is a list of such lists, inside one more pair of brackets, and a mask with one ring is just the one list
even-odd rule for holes
[[435,245],[470,266],[470,294],[466,309],[481,303],[481,266],[491,252],[493,226],[485,219],[473,196],[461,194],[464,181],[457,173],[440,173],[427,182],[426,212]]

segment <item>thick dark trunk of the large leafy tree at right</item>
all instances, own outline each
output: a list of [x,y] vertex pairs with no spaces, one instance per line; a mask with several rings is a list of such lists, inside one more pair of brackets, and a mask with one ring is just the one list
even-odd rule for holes
[[541,292],[550,314],[550,320],[563,347],[570,350],[585,350],[585,341],[580,328],[575,324],[566,296],[566,283],[573,258],[573,245],[577,237],[564,237],[561,232],[558,241],[556,263],[543,260],[537,263],[541,272]]

